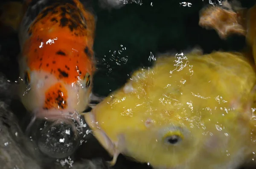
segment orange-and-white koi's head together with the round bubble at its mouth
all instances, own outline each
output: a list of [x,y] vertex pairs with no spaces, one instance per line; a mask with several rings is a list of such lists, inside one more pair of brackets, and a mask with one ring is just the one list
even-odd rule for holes
[[[39,48],[37,52],[29,50],[28,53],[23,53],[20,57],[19,95],[23,106],[33,114],[34,119],[47,121],[48,125],[44,125],[41,131],[36,127],[40,124],[37,122],[34,126],[33,120],[27,127],[31,129],[33,124],[33,128],[37,128],[38,132],[35,134],[39,137],[40,150],[52,158],[65,158],[80,143],[79,133],[83,130],[83,125],[79,114],[87,108],[90,101],[93,64],[86,57],[75,57],[83,55],[84,51],[71,49],[68,52],[68,48],[58,49],[57,46],[58,41],[55,45],[47,44]],[[57,51],[52,52],[49,50],[51,48]],[[38,56],[44,57],[36,59]],[[62,138],[65,138],[64,142],[58,141]],[[66,146],[67,144],[72,146]]]

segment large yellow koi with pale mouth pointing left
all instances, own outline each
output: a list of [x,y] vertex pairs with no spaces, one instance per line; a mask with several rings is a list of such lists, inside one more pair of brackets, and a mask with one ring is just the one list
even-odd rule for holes
[[157,58],[84,115],[102,146],[155,169],[235,169],[253,158],[254,66],[238,52]]

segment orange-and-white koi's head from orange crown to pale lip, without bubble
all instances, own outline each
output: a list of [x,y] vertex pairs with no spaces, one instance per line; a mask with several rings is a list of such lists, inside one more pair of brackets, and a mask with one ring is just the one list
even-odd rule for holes
[[[76,53],[70,51],[71,57]],[[76,63],[76,59],[71,60],[61,50],[54,55],[58,57],[43,57],[30,62],[23,57],[20,64],[21,101],[36,117],[48,120],[72,117],[82,112],[87,107],[92,89],[89,60]]]

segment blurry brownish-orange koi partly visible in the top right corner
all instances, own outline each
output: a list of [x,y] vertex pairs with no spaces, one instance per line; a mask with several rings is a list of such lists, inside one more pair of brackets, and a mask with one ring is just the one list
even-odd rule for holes
[[199,25],[215,29],[222,39],[231,34],[245,36],[247,46],[244,52],[253,56],[256,63],[256,4],[251,8],[243,8],[237,0],[223,3],[223,6],[206,7],[200,14]]

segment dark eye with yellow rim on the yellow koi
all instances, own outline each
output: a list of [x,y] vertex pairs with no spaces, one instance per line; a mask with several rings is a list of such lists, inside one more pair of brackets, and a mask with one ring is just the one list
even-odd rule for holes
[[180,141],[182,140],[183,140],[183,135],[181,134],[180,131],[175,131],[175,132],[169,131],[163,137],[164,143],[172,144],[172,145],[180,143]]

